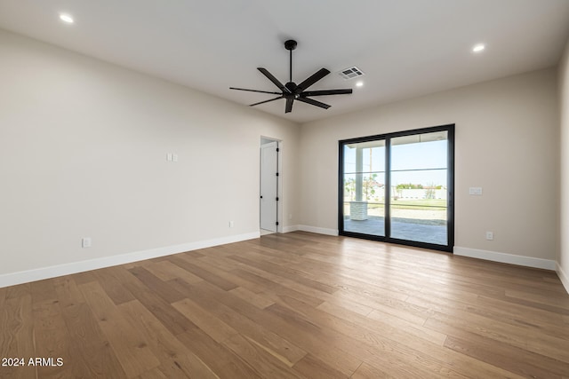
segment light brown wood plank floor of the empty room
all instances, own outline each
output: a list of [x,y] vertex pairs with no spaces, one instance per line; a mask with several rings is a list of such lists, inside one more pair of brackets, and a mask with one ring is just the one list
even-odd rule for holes
[[272,234],[0,288],[0,356],[26,359],[6,378],[569,377],[569,295],[555,272]]

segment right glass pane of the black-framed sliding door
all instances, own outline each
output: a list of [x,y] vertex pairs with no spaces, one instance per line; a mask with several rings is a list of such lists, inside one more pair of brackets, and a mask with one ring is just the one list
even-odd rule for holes
[[448,131],[390,138],[389,237],[447,245]]

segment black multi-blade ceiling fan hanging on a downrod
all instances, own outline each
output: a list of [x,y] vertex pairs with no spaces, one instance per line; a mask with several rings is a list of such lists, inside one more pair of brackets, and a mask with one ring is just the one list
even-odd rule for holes
[[322,91],[306,91],[312,84],[317,83],[320,79],[325,77],[325,75],[330,74],[325,68],[320,68],[315,74],[309,76],[304,82],[300,84],[296,84],[293,82],[293,50],[296,49],[296,41],[288,40],[284,43],[284,48],[290,51],[290,80],[288,83],[284,84],[280,83],[278,79],[274,75],[268,72],[266,68],[257,67],[262,75],[267,76],[268,80],[273,82],[276,87],[278,87],[280,92],[272,92],[272,91],[259,91],[259,90],[247,90],[245,88],[236,88],[236,87],[229,87],[229,90],[238,90],[238,91],[250,91],[250,92],[261,92],[261,93],[271,93],[275,95],[279,95],[274,99],[268,99],[264,101],[260,101],[258,103],[251,104],[250,107],[258,106],[260,104],[268,103],[269,101],[275,101],[278,99],[286,99],[286,107],[284,108],[284,113],[289,113],[293,110],[293,102],[294,100],[302,101],[303,103],[310,104],[312,106],[321,107],[328,109],[328,104],[322,103],[315,99],[309,99],[310,96],[325,96],[325,95],[345,95],[352,93],[351,89],[345,90],[322,90]]

